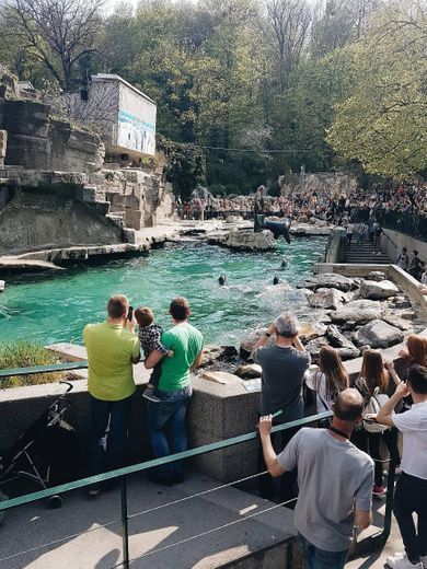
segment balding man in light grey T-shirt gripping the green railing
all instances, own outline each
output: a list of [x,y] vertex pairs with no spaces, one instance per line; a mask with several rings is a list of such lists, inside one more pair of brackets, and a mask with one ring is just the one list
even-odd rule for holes
[[270,442],[272,417],[259,421],[272,476],[298,467],[295,524],[311,568],[327,564],[343,568],[354,525],[362,530],[371,522],[373,462],[349,441],[362,409],[363,399],[356,390],[343,391],[334,405],[331,428],[301,429],[278,456]]

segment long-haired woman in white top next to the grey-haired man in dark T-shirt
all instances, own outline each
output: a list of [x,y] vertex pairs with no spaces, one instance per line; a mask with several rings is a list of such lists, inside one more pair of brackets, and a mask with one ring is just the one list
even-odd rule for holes
[[305,383],[315,392],[318,413],[332,410],[335,397],[348,387],[347,370],[334,348],[322,346],[319,352],[319,370],[307,372]]

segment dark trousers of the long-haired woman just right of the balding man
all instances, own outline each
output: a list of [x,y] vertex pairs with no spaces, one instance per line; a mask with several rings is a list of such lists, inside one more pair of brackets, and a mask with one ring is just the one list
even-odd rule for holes
[[389,429],[383,432],[369,432],[365,429],[361,429],[360,431],[355,431],[351,439],[354,440],[356,446],[368,453],[374,460],[374,484],[376,486],[382,486],[384,463],[381,462],[381,440],[384,441],[389,450],[390,458],[394,458],[395,464],[399,465],[401,457],[399,455],[397,449],[397,431],[395,429]]

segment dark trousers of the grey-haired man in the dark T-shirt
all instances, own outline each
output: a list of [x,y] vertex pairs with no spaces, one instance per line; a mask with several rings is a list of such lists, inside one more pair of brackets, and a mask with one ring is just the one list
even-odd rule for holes
[[[272,433],[272,444],[275,449],[276,453],[280,453],[288,442],[291,440],[293,434],[298,432],[298,428],[287,429],[286,431],[273,432]],[[263,448],[259,443],[258,451],[258,472],[264,472],[267,469],[267,466],[264,462]],[[291,500],[292,498],[297,498],[297,468],[291,472],[286,472],[280,476],[279,481],[279,502],[285,502]],[[275,500],[276,498],[276,485],[275,479],[270,474],[264,474],[259,476],[259,496],[262,498],[266,498],[267,500]]]

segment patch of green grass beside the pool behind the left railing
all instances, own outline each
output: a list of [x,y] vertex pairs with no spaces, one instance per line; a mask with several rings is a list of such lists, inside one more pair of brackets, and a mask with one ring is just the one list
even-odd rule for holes
[[[60,360],[58,356],[37,344],[30,341],[0,344],[0,370],[30,368],[33,365],[50,365],[59,362]],[[4,390],[8,387],[53,383],[64,379],[65,375],[65,372],[57,372],[0,378],[0,387]]]

